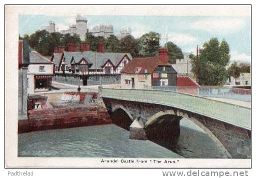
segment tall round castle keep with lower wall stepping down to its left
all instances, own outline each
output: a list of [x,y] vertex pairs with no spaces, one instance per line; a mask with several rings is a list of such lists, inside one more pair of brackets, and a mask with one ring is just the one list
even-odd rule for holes
[[87,18],[82,17],[81,14],[78,14],[76,18],[76,24],[69,26],[69,29],[67,30],[61,30],[60,33],[70,33],[72,35],[76,33],[80,36],[80,39],[84,41],[87,33]]

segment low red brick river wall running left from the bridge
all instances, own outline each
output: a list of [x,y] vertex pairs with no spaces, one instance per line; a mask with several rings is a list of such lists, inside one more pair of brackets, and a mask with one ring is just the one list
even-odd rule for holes
[[106,108],[88,105],[29,110],[28,117],[28,120],[19,120],[19,133],[112,123]]

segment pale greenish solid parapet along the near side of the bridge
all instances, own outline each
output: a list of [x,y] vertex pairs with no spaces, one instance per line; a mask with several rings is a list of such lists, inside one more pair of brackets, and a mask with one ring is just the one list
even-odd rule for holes
[[210,98],[170,90],[111,88],[101,88],[100,96],[172,106],[250,129],[250,108]]

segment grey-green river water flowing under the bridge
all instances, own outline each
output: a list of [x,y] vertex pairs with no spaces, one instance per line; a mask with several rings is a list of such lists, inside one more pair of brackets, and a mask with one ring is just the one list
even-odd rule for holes
[[[131,140],[129,131],[96,125],[19,134],[18,156],[30,157],[158,157],[225,158],[224,151],[189,120],[181,120],[174,143]],[[159,145],[160,144],[160,145]]]

